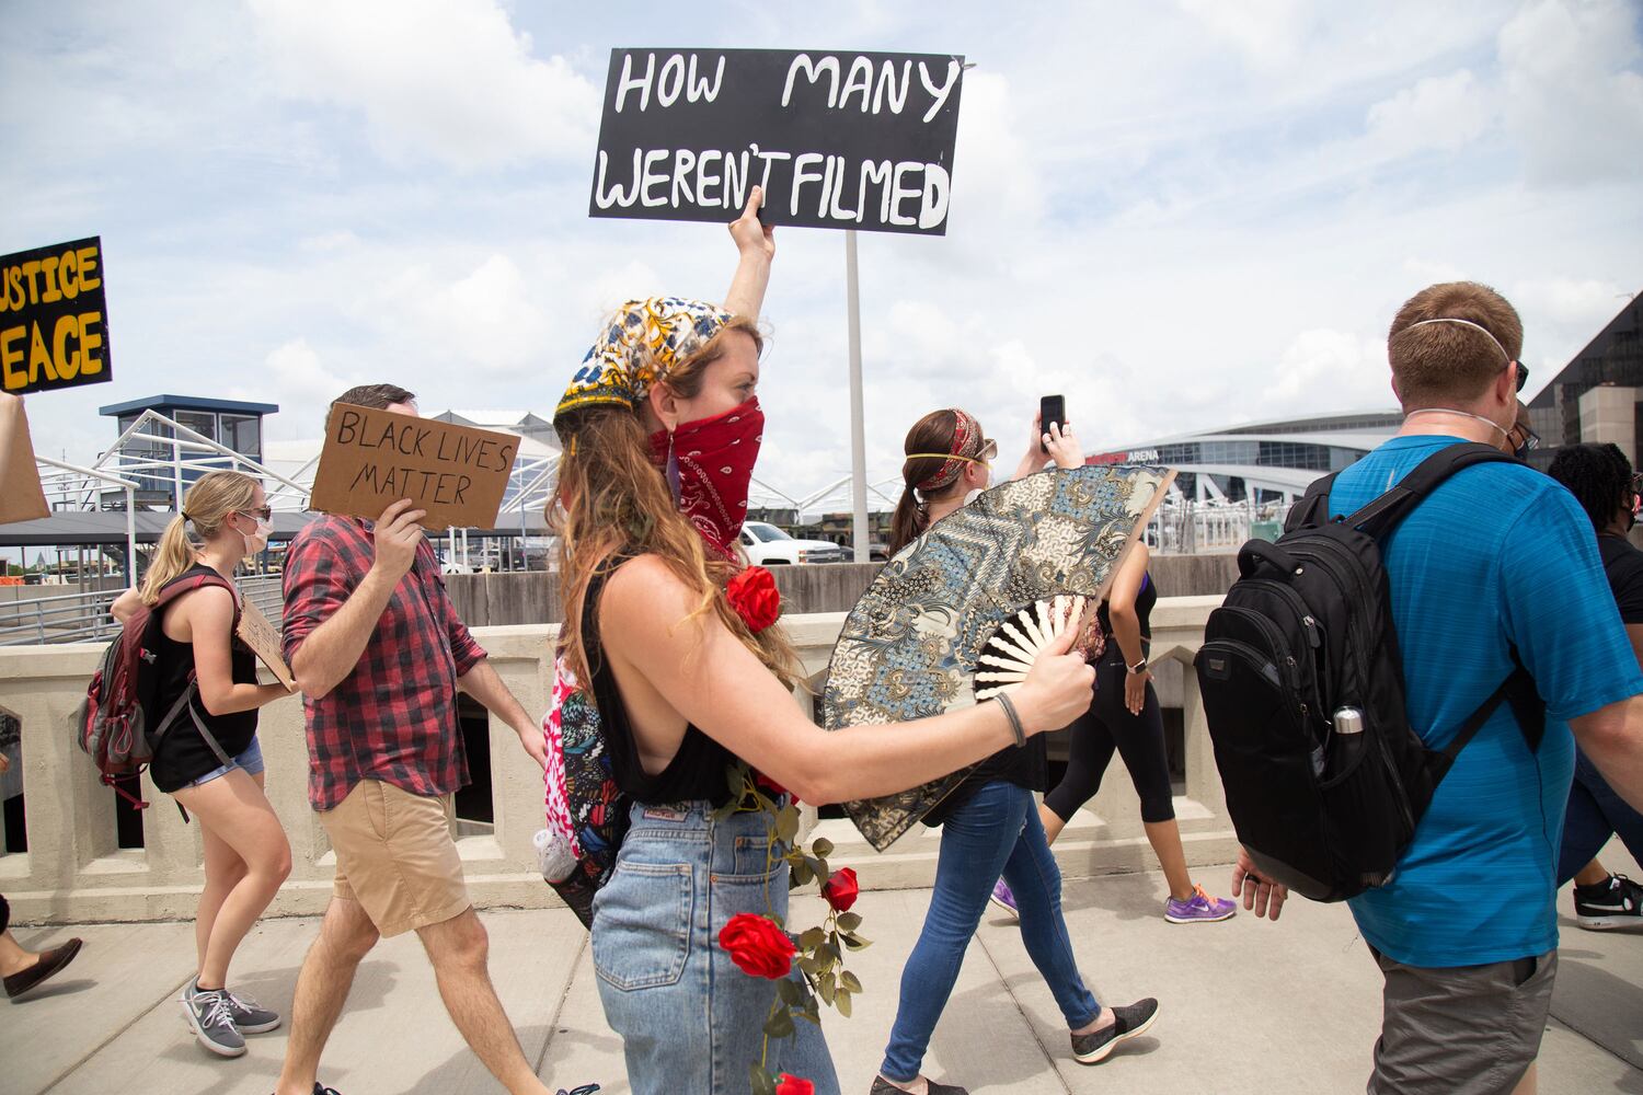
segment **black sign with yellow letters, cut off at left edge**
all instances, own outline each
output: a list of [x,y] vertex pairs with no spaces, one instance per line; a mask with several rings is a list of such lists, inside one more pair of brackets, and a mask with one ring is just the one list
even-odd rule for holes
[[0,256],[0,391],[113,379],[102,240]]

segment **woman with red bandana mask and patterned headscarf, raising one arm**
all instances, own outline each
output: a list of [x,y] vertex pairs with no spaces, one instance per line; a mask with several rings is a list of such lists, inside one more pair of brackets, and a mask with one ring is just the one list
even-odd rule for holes
[[[716,946],[738,913],[787,908],[769,814],[713,818],[729,799],[728,767],[746,762],[825,804],[918,786],[1015,740],[997,703],[895,734],[826,734],[792,699],[802,667],[780,624],[744,619],[726,598],[762,430],[756,320],[775,241],[757,222],[761,200],[754,187],[731,225],[741,261],[726,307],[624,305],[554,415],[560,676],[585,683],[600,747],[633,799],[593,905],[593,964],[634,1095],[748,1092],[748,1062],[761,1059],[817,1095],[838,1092],[820,1028],[766,1039],[775,983],[744,975]],[[1024,734],[1088,706],[1091,671],[1070,642],[1014,694]]]

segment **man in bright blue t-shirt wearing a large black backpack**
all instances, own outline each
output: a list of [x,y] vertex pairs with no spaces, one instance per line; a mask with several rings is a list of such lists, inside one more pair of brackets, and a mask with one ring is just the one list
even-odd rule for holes
[[[1383,494],[1446,445],[1505,447],[1523,327],[1497,292],[1431,286],[1388,338],[1398,437],[1341,473],[1334,515]],[[1643,803],[1643,673],[1574,497],[1521,465],[1477,465],[1434,489],[1383,545],[1410,722],[1447,745],[1510,675],[1546,701],[1531,749],[1505,704],[1461,750],[1392,882],[1352,898],[1385,975],[1370,1095],[1533,1092],[1558,965],[1556,864],[1574,742]],[[1572,734],[1571,734],[1572,731]],[[1283,891],[1240,859],[1257,914]]]

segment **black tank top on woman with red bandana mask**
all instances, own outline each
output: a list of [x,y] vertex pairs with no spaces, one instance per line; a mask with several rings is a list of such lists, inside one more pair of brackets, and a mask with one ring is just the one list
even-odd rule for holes
[[588,593],[582,599],[582,645],[588,657],[588,673],[593,676],[593,701],[600,708],[600,724],[611,750],[611,777],[624,795],[636,803],[662,804],[706,799],[715,806],[729,801],[729,785],[725,768],[736,763],[736,755],[698,731],[685,727],[685,739],[665,768],[649,775],[639,762],[639,744],[628,721],[628,706],[616,688],[616,673],[605,662],[600,642],[600,594],[605,580],[633,560],[633,555],[613,555],[588,580]]

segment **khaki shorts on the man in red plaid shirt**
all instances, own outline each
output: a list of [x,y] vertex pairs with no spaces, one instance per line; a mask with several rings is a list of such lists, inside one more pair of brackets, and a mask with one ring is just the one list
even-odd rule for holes
[[337,852],[335,896],[358,901],[384,939],[473,905],[450,839],[449,799],[360,780],[335,809],[319,811],[319,822]]

